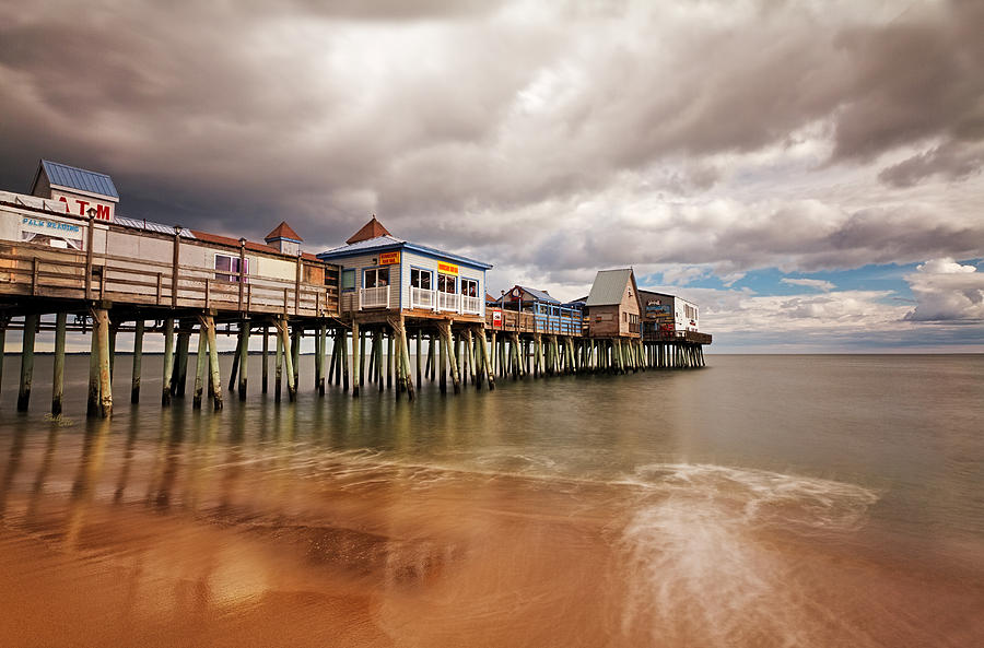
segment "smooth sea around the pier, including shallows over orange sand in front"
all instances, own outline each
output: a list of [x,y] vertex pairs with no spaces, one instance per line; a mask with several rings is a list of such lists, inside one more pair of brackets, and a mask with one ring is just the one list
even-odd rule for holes
[[[2,646],[984,645],[984,356],[707,367],[86,420],[0,394]],[[223,379],[230,356],[223,356]],[[194,358],[189,363],[194,367]],[[271,372],[272,389],[272,372]]]

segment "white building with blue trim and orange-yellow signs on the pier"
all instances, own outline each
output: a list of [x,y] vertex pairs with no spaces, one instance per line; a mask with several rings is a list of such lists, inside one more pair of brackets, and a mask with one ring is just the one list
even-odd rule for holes
[[491,264],[397,238],[375,215],[345,245],[317,257],[341,267],[343,314],[484,321]]

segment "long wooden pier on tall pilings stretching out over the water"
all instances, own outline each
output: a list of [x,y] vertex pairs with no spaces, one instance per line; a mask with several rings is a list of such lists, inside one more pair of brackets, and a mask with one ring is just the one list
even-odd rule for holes
[[[342,278],[345,266],[302,254],[285,223],[263,246],[179,226],[150,227],[119,217],[101,222],[95,210],[87,219],[71,216],[52,212],[50,201],[32,200],[0,197],[8,221],[23,220],[24,232],[33,228],[21,240],[0,240],[0,349],[9,331],[21,332],[20,411],[30,407],[35,345],[43,331],[55,340],[51,413],[63,410],[67,338],[81,334],[90,338],[87,413],[104,417],[113,413],[112,376],[121,332],[133,339],[131,402],[141,398],[142,357],[148,339],[156,335],[164,351],[161,403],[168,407],[185,397],[195,337],[192,407],[211,401],[215,410],[224,397],[221,335],[236,339],[225,384],[230,392],[247,399],[245,358],[250,342],[260,338],[260,391],[271,387],[273,355],[274,398],[280,400],[285,388],[290,401],[297,393],[304,338],[314,340],[319,394],[331,385],[353,397],[371,387],[410,400],[424,380],[436,382],[442,393],[457,393],[469,385],[491,390],[504,378],[700,367],[703,345],[711,343],[710,335],[693,331],[644,334],[637,322],[598,334],[579,310],[570,308],[493,311],[473,296],[484,294],[488,266],[394,239],[375,219],[363,228],[375,236],[370,244],[382,240],[389,246],[383,249],[396,246],[397,251],[365,252],[373,255],[365,280],[372,276],[377,285],[356,288]],[[32,240],[33,232],[46,227],[71,231],[69,236],[78,238],[63,245]],[[402,270],[401,254],[407,257]],[[384,259],[396,263],[389,267],[393,274],[379,266]],[[431,261],[435,270],[419,270]],[[437,279],[412,284],[422,274],[413,275],[410,268],[432,272],[429,278],[435,272],[438,279],[453,278],[444,284],[453,292]],[[389,279],[402,283],[390,286]],[[0,354],[0,378],[2,370]]]

